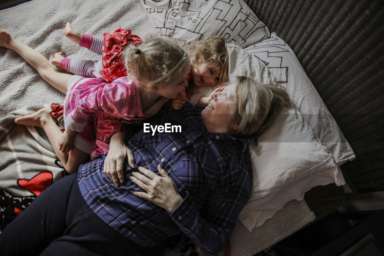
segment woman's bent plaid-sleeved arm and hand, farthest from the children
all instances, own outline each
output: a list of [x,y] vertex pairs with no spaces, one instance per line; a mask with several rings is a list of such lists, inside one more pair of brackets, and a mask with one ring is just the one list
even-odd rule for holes
[[[207,253],[217,253],[223,248],[252,189],[252,178],[247,172],[232,171],[235,177],[240,174],[236,181],[233,181],[232,175],[223,178],[222,186],[211,191],[202,211],[202,205],[190,193],[184,198],[180,196],[165,170],[159,168],[161,176],[142,167],[139,170],[142,174],[132,173],[134,177],[131,180],[146,192],[132,191],[134,195],[166,209],[180,230]],[[167,179],[172,182],[168,183]]]

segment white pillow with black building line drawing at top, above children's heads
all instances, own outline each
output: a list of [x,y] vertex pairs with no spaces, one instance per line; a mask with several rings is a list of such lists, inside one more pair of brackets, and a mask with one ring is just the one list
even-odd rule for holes
[[269,38],[268,28],[243,0],[141,0],[162,36],[183,44],[219,35],[243,48]]

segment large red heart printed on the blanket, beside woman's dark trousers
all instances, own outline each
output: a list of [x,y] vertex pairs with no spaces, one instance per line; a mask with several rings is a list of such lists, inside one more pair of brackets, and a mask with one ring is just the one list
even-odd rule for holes
[[30,180],[20,179],[17,180],[17,183],[20,187],[23,187],[38,196],[41,192],[43,192],[43,190],[52,184],[52,177],[53,175],[51,172],[40,172]]

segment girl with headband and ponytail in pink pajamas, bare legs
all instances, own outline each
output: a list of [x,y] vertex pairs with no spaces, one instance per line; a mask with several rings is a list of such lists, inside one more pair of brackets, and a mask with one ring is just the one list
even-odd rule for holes
[[[185,77],[190,67],[185,50],[173,40],[160,37],[125,45],[121,56],[129,76],[111,83],[97,75],[87,78],[61,73],[43,55],[18,42],[5,30],[0,31],[0,46],[16,51],[36,68],[43,79],[67,94],[65,134],[50,117],[49,109],[19,117],[15,122],[42,127],[70,173],[76,172],[79,165],[89,159],[91,152],[108,152],[111,135],[121,130],[120,121],[146,119],[156,114],[168,98],[179,95],[187,85]],[[58,66],[64,58],[63,53],[56,53],[52,63]],[[72,140],[75,147],[71,149]]]

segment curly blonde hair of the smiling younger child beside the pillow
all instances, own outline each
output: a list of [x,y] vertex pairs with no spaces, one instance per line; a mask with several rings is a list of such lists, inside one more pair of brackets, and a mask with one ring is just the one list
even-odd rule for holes
[[191,56],[191,69],[200,63],[207,63],[214,69],[220,70],[219,83],[229,81],[229,56],[225,44],[228,41],[221,36],[210,36],[205,40],[194,41],[187,48]]

